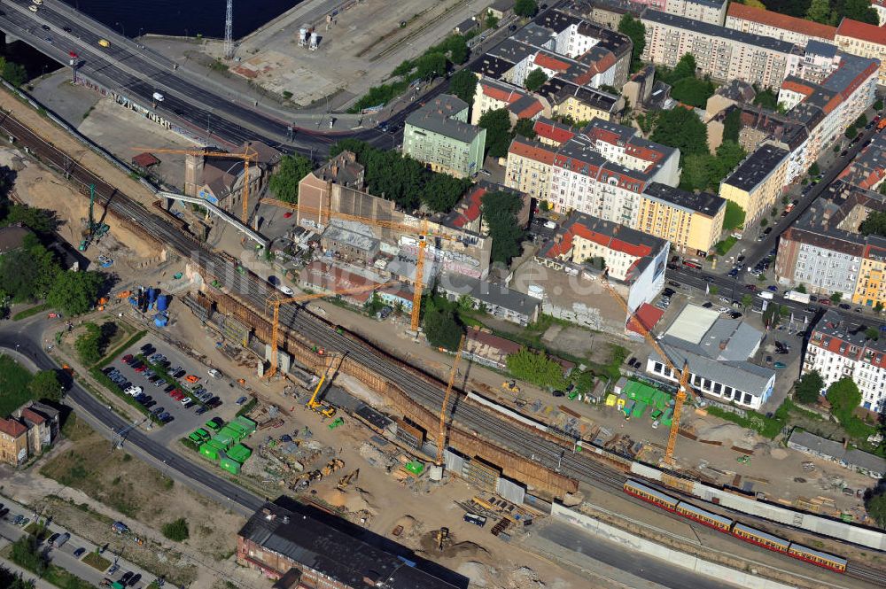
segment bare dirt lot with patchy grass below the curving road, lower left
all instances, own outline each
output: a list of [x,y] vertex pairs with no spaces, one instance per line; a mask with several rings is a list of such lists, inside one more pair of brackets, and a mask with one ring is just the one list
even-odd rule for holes
[[[110,444],[82,422],[66,428],[67,439],[28,472],[4,477],[4,492],[45,509],[59,523],[114,552],[181,584],[220,586],[237,574],[232,555],[245,520],[200,497],[162,472],[145,466]],[[173,543],[163,524],[184,517],[190,539]],[[117,536],[110,523],[123,521],[144,545]],[[248,578],[248,575],[244,578]]]

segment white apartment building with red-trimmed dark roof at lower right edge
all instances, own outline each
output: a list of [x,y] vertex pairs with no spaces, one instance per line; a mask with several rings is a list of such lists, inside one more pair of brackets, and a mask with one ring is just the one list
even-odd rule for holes
[[[853,318],[854,320],[854,318]],[[849,377],[861,392],[860,407],[886,411],[886,341],[868,339],[864,326],[828,309],[812,327],[801,374],[817,371],[825,389]]]

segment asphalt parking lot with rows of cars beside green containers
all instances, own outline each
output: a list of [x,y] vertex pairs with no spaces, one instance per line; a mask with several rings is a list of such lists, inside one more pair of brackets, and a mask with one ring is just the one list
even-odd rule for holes
[[[153,431],[170,441],[186,436],[214,415],[236,408],[241,391],[227,377],[210,370],[172,346],[151,339],[133,345],[105,368],[109,377],[118,377],[118,385],[164,423]],[[173,378],[175,384],[169,384],[164,376]]]

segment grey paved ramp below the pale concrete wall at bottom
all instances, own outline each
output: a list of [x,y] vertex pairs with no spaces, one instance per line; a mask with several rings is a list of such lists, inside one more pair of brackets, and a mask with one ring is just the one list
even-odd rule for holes
[[[567,550],[584,554],[650,584],[672,589],[723,589],[738,586],[727,584],[725,579],[698,575],[691,570],[682,569],[624,545],[599,539],[569,523],[548,523],[541,529],[539,535]],[[625,582],[624,579],[615,580]]]

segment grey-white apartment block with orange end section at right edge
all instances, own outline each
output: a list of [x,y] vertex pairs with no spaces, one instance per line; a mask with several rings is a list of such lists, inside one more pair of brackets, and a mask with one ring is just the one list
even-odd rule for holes
[[779,283],[804,284],[810,293],[838,292],[864,306],[886,303],[877,260],[884,241],[859,234],[859,225],[871,211],[886,211],[882,195],[842,181],[828,186],[781,234],[775,258]]

